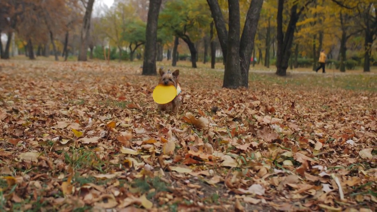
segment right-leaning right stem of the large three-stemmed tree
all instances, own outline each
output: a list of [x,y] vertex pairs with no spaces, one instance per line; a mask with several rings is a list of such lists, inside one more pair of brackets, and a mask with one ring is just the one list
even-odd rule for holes
[[244,29],[239,43],[242,86],[249,87],[250,57],[254,49],[254,39],[258,28],[263,0],[252,0],[247,11]]

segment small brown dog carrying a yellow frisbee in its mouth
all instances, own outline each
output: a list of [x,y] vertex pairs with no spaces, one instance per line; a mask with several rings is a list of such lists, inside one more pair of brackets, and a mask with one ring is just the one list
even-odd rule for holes
[[172,110],[178,112],[179,106],[181,106],[183,101],[183,97],[181,95],[181,86],[179,86],[178,83],[179,70],[177,69],[172,73],[169,70],[167,72],[164,72],[164,70],[160,68],[158,70],[158,73],[160,74],[160,80],[158,84],[174,85],[177,89],[177,96],[169,103],[158,104],[158,109],[165,112],[170,112]]

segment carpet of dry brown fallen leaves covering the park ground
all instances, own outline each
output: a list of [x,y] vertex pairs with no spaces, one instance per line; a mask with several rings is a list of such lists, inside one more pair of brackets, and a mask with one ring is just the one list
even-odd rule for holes
[[0,61],[1,211],[375,211],[375,91],[181,68],[160,115],[139,66]]

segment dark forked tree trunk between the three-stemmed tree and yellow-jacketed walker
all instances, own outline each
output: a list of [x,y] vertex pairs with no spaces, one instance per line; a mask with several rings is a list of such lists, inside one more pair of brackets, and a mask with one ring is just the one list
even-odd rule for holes
[[291,48],[293,43],[294,31],[296,23],[299,20],[301,12],[314,0],[308,1],[305,6],[297,12],[297,2],[291,7],[290,20],[285,35],[283,34],[283,9],[284,0],[278,0],[277,6],[277,59],[276,74],[279,76],[287,75],[289,58],[291,56]]

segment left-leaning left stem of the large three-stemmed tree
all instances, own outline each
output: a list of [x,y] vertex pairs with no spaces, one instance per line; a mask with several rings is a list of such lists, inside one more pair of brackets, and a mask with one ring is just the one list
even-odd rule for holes
[[[213,20],[215,21],[215,27],[219,38],[219,43],[221,46],[222,56],[224,62],[227,60],[227,45],[228,45],[228,31],[225,26],[225,20],[221,12],[219,2],[217,0],[207,0],[208,6],[210,7]],[[225,64],[224,64],[225,65]]]

